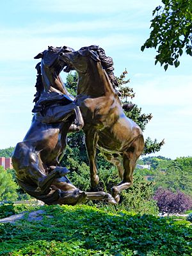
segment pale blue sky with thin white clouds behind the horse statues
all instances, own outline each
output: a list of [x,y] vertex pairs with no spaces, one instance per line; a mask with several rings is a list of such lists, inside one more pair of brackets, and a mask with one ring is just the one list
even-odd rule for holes
[[[152,11],[160,0],[9,0],[0,16],[0,148],[14,147],[31,125],[38,60],[48,45],[76,50],[99,45],[125,68],[132,101],[152,113],[144,137],[165,145],[151,156],[192,156],[192,68],[184,54],[178,68],[154,65],[156,51],[141,52],[150,33]],[[65,74],[61,74],[65,81]]]

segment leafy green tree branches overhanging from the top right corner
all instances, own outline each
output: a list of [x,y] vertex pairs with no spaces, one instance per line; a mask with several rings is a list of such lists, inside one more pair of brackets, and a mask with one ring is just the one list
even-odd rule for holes
[[150,37],[141,46],[157,49],[156,61],[164,65],[180,64],[179,58],[185,49],[192,56],[192,0],[162,0],[164,6],[153,11]]

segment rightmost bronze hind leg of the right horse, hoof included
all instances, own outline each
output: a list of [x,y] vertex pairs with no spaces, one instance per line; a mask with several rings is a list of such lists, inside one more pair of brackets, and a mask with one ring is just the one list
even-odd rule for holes
[[122,191],[123,189],[130,188],[132,186],[132,174],[134,172],[134,168],[136,167],[136,161],[143,151],[143,147],[143,136],[139,136],[136,140],[132,142],[131,146],[127,149],[127,151],[124,152],[124,173],[122,177],[123,179],[122,182],[120,182],[120,184],[118,184],[117,186],[113,186],[112,188],[112,196],[115,198],[116,202],[119,202],[120,200],[120,191]]

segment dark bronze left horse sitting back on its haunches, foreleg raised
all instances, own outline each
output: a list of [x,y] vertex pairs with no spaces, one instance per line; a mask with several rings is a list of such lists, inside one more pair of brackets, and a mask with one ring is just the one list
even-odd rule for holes
[[[60,77],[61,70],[68,66],[60,63],[58,56],[66,51],[71,49],[49,47],[35,57],[42,58],[36,66],[35,114],[29,131],[17,143],[12,156],[17,181],[24,191],[45,204],[75,205],[86,198],[106,199],[115,204],[108,193],[79,191],[66,177],[69,170],[60,166],[68,130],[72,127],[73,131],[79,131],[83,126],[81,112]],[[73,125],[75,119],[78,122]]]

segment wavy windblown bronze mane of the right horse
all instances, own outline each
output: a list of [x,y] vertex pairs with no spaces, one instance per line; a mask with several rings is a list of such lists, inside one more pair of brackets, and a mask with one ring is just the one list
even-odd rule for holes
[[104,68],[104,70],[108,74],[108,77],[111,81],[111,84],[113,85],[113,88],[115,89],[116,87],[118,87],[118,81],[113,73],[113,70],[114,70],[113,58],[111,58],[110,56],[106,56],[106,52],[104,51],[104,49],[102,49],[98,45],[90,45],[87,47],[82,47],[80,50],[85,50],[85,49],[92,50],[97,53],[97,55],[99,56],[102,68]]

